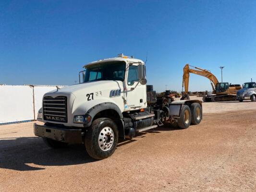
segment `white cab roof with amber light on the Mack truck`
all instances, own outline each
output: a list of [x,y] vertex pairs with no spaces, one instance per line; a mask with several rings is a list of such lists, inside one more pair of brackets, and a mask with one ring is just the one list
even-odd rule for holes
[[85,68],[85,67],[88,67],[90,65],[103,63],[103,62],[108,62],[108,61],[141,62],[141,63],[144,64],[144,62],[142,60],[134,59],[133,56],[128,57],[128,56],[124,56],[123,54],[118,54],[118,57],[93,61],[93,62],[85,64],[83,67]]

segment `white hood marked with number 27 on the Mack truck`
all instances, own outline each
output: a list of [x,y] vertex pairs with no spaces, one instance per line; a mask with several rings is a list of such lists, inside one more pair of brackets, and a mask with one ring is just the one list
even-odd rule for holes
[[[117,90],[118,92],[116,92]],[[95,81],[83,84],[74,84],[71,86],[59,88],[58,90],[55,89],[54,91],[46,93],[44,95],[44,98],[45,96],[50,96],[53,98],[56,98],[58,96],[65,96],[67,99],[67,122],[64,123],[58,121],[58,123],[62,123],[65,126],[73,126],[73,118],[75,115],[85,115],[85,113],[89,109],[102,103],[112,103],[117,106],[120,111],[123,111],[124,101],[121,97],[122,91],[122,81]],[[120,95],[110,96],[110,93],[120,93]],[[43,105],[45,105],[44,101]],[[51,110],[49,110],[48,112],[52,113]],[[47,120],[44,120],[44,122],[46,121]],[[81,127],[83,126],[83,124],[75,125]]]

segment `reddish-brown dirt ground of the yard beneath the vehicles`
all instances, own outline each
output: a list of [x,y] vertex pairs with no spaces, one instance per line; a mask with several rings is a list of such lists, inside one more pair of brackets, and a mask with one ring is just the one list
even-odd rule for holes
[[199,125],[143,132],[100,161],[81,145],[47,147],[34,122],[1,125],[0,192],[255,192],[256,102],[203,112]]

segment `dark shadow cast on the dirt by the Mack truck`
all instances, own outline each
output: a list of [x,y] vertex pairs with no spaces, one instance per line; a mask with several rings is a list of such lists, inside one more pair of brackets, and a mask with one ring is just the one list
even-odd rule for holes
[[[170,126],[163,126],[148,132],[160,133],[161,131],[171,130],[177,129],[171,128]],[[136,137],[142,138],[145,137],[145,134],[147,132],[141,132]],[[135,142],[136,137],[132,140],[120,139],[117,147]],[[85,146],[82,144],[70,145],[62,149],[52,149],[39,137],[0,139],[0,168],[29,171],[45,169],[40,168],[40,166],[67,166],[95,161],[97,160],[91,158],[86,153]]]

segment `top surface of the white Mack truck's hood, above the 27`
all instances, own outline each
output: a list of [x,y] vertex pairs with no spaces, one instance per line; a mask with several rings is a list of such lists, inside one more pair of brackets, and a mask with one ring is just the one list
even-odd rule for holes
[[61,93],[72,93],[74,96],[77,96],[79,93],[85,94],[96,91],[112,90],[118,88],[121,89],[120,85],[122,85],[122,81],[95,81],[65,86],[60,88],[58,91],[50,91],[48,94],[58,93],[58,95],[61,95]]

